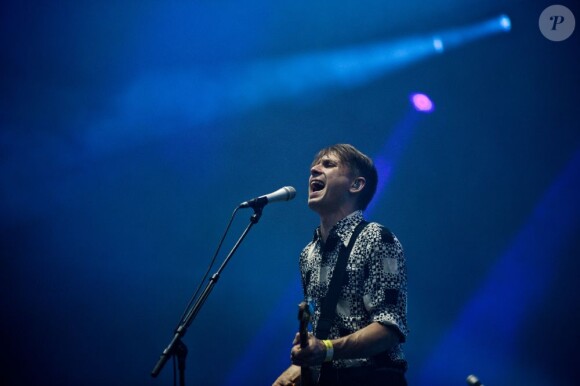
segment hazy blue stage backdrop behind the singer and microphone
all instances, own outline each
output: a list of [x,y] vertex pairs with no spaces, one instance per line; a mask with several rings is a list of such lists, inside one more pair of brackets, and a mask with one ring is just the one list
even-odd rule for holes
[[[150,371],[233,209],[292,185],[184,338],[188,384],[271,384],[318,221],[309,165],[338,142],[391,168],[368,217],[405,247],[410,384],[574,384],[580,35],[542,36],[548,5],[4,2],[2,384],[171,384],[171,362]],[[369,69],[356,63],[372,50],[344,51],[500,14],[511,32],[456,33],[456,48],[409,62]],[[349,55],[344,76],[321,64]],[[417,91],[432,114],[412,109]]]

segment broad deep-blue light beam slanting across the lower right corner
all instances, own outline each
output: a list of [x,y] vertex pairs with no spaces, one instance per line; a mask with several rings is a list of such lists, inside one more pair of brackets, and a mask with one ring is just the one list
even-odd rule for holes
[[[512,245],[409,384],[447,385],[449,379],[460,379],[472,370],[486,374],[490,384],[502,384],[516,372],[522,380],[518,384],[534,383],[530,381],[535,381],[536,375],[513,354],[523,335],[523,324],[544,311],[538,309],[542,297],[557,280],[559,262],[553,258],[561,256],[577,238],[579,186],[580,151],[546,191]],[[461,356],[449,366],[449,358],[457,353]]]

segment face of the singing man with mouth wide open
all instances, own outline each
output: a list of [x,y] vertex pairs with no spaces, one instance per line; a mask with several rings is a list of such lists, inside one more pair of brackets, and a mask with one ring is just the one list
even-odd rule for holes
[[336,154],[323,156],[310,168],[308,206],[319,214],[340,210],[351,199],[352,179],[349,168]]

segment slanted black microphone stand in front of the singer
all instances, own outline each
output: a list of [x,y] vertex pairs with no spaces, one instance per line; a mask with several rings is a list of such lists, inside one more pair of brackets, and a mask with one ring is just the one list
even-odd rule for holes
[[191,309],[187,312],[179,327],[177,327],[177,329],[175,330],[175,335],[173,336],[173,339],[171,340],[169,345],[161,353],[161,357],[159,358],[157,364],[151,371],[152,377],[154,378],[157,377],[161,372],[161,370],[163,369],[163,366],[165,366],[165,364],[169,360],[169,358],[173,355],[176,355],[178,357],[179,362],[180,385],[185,386],[185,356],[187,355],[187,347],[181,341],[181,338],[185,335],[190,324],[193,322],[193,320],[201,310],[201,307],[203,306],[209,294],[211,293],[213,287],[219,280],[222,271],[224,270],[224,268],[226,267],[226,265],[228,264],[228,262],[238,249],[238,247],[241,245],[242,241],[246,238],[246,235],[248,234],[248,232],[250,232],[252,226],[254,224],[257,224],[258,221],[260,221],[260,217],[262,217],[263,205],[256,206],[253,209],[254,214],[250,218],[250,223],[248,224],[248,226],[246,227],[246,229],[244,230],[244,232],[242,233],[236,244],[233,246],[230,253],[226,256],[222,265],[219,267],[216,273],[213,274],[213,276],[207,283],[207,286],[205,287],[205,289],[203,290],[203,292],[201,293],[201,295],[199,296],[193,307],[191,307]]

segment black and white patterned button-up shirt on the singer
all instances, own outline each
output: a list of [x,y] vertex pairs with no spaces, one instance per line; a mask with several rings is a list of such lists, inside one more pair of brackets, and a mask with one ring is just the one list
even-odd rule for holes
[[[346,248],[354,229],[363,220],[356,211],[340,220],[330,231],[326,243],[320,228],[300,254],[300,272],[305,298],[313,307],[312,325],[316,329],[320,305],[326,296],[340,248]],[[380,224],[369,223],[358,236],[348,259],[345,285],[336,306],[329,339],[349,335],[372,322],[391,326],[406,340],[407,270],[399,240]],[[381,359],[379,359],[381,358]],[[339,359],[335,367],[396,365],[406,368],[402,344],[380,357]]]

